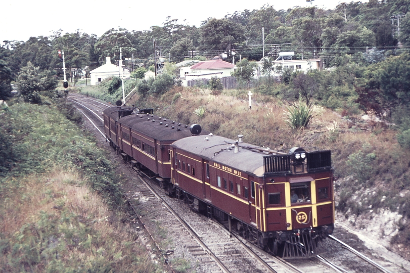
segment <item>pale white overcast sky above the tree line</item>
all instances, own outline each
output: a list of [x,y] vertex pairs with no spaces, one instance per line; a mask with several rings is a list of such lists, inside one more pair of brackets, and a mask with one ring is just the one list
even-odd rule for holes
[[[350,0],[314,0],[313,5],[334,9],[343,2],[350,3]],[[220,19],[235,11],[258,10],[265,4],[274,6],[276,10],[310,6],[305,0],[5,0],[0,2],[0,44],[4,40],[27,41],[30,36],[50,36],[59,29],[63,33],[79,29],[98,37],[107,30],[118,27],[129,31],[148,30],[154,25],[162,26],[167,16],[178,19],[177,23],[199,27],[201,21],[209,17]]]

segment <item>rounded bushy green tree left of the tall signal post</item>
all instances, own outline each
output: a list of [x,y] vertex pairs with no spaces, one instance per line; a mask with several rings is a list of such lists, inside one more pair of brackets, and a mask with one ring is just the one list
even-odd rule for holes
[[40,93],[52,97],[58,81],[50,70],[40,70],[31,62],[22,67],[17,77],[17,87],[25,102],[41,104]]

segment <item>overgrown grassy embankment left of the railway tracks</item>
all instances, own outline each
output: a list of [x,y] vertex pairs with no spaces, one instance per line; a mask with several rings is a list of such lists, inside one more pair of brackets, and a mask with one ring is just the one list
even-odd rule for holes
[[8,103],[0,110],[11,167],[0,172],[0,271],[162,271],[130,232],[118,178],[93,138],[58,107]]

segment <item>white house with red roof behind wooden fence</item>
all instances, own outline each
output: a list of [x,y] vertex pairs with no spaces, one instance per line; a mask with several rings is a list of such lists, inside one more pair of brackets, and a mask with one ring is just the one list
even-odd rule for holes
[[202,61],[190,67],[181,67],[179,75],[183,85],[186,85],[188,80],[230,77],[235,69],[236,65],[218,59]]

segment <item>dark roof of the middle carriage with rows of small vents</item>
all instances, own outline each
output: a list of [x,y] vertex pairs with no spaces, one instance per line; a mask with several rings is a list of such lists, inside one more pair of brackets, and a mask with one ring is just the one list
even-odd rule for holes
[[118,122],[158,141],[176,141],[192,136],[188,125],[150,114],[131,114],[118,119]]

